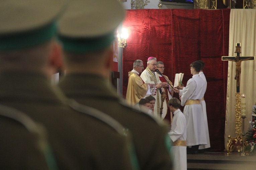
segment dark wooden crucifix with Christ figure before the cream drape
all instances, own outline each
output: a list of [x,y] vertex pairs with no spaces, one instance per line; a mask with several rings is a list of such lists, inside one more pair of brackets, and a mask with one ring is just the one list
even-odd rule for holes
[[222,60],[229,60],[236,62],[236,76],[235,79],[237,80],[237,93],[240,93],[240,79],[241,79],[241,63],[245,60],[254,60],[254,56],[240,56],[241,53],[241,46],[240,43],[237,43],[236,46],[236,56],[222,56]]

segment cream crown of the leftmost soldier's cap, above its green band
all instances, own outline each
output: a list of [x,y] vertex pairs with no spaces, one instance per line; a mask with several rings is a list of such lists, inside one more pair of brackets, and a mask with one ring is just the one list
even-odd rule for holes
[[0,35],[25,32],[51,23],[66,0],[1,0]]

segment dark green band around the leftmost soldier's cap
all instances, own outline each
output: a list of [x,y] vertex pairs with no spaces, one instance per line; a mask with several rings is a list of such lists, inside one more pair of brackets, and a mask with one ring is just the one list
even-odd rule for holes
[[19,50],[49,41],[57,32],[57,23],[52,22],[36,30],[0,35],[0,51]]

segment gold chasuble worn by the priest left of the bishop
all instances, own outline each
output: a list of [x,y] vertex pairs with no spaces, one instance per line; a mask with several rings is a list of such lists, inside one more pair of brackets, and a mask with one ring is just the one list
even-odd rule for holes
[[129,105],[134,106],[146,96],[149,85],[145,84],[136,72],[130,71],[128,74],[129,79],[125,100]]

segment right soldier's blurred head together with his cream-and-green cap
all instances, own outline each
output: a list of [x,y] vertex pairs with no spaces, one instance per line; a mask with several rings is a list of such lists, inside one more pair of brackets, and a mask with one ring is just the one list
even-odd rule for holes
[[109,76],[112,43],[125,10],[117,0],[72,0],[59,20],[66,72]]

